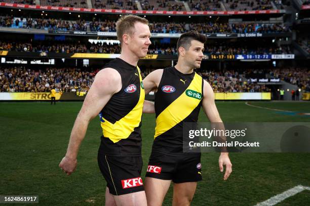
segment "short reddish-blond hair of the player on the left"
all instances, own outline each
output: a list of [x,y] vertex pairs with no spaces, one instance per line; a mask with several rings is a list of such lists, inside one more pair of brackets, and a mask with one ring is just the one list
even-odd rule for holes
[[130,36],[134,34],[135,23],[137,22],[148,25],[147,19],[135,15],[122,16],[117,21],[117,36],[121,44],[123,43],[124,34],[128,34]]

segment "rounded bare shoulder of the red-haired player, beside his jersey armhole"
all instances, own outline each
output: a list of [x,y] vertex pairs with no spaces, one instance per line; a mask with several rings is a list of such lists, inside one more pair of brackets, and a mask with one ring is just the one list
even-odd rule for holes
[[100,91],[117,93],[122,89],[122,78],[117,70],[104,68],[96,74],[93,86]]

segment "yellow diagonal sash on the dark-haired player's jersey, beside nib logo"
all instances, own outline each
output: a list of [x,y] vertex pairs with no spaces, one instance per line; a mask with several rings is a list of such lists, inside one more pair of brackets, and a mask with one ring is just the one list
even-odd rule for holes
[[193,80],[185,91],[157,117],[154,138],[183,121],[195,108],[197,108],[201,99],[186,95],[186,91],[193,90],[202,93],[202,81],[202,77],[195,74]]

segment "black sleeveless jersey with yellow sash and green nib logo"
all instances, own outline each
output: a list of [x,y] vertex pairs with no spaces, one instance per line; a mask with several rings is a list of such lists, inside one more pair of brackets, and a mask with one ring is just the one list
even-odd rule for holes
[[183,123],[197,122],[203,98],[203,79],[196,72],[183,74],[175,67],[163,70],[155,94],[156,128],[152,152],[183,153]]

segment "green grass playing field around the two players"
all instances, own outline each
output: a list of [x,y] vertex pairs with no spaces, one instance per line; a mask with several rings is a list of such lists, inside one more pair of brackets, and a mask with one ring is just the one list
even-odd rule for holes
[[[251,102],[253,105],[310,113],[310,102]],[[310,116],[287,115],[245,105],[216,102],[224,122],[310,122]],[[40,205],[104,205],[105,180],[97,166],[99,118],[89,125],[71,176],[58,167],[82,102],[0,102],[0,195],[39,195]],[[201,111],[200,121],[207,122]],[[154,115],[143,115],[143,172],[153,141]],[[230,153],[233,172],[222,180],[218,154],[202,155],[203,181],[192,205],[255,205],[296,185],[310,186],[310,153]],[[164,205],[171,205],[170,188]],[[18,204],[21,205],[21,204]],[[303,191],[277,205],[310,205]]]

